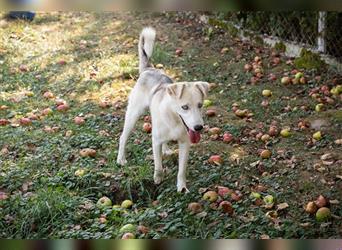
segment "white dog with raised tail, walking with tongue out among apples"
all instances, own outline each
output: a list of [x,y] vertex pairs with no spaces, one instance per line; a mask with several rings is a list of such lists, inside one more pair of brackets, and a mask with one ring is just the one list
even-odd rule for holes
[[191,143],[198,143],[203,129],[202,104],[208,94],[207,82],[177,82],[161,69],[151,66],[150,57],[156,31],[151,27],[142,30],[139,37],[139,78],[132,89],[120,136],[117,163],[125,165],[127,139],[139,117],[150,108],[152,120],[152,147],[154,183],[163,179],[162,154],[172,152],[167,142],[179,145],[177,191],[189,192],[186,186],[186,167]]

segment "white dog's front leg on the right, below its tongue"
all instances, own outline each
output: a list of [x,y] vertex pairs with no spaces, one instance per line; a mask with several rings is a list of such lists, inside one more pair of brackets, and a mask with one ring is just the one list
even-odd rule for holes
[[179,142],[179,169],[177,175],[177,191],[186,193],[189,190],[186,188],[186,166],[189,158],[189,142]]

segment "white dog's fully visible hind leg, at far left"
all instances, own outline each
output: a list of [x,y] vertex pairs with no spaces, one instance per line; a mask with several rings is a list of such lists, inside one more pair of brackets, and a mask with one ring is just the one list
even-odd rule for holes
[[147,105],[139,103],[139,101],[141,102],[142,99],[138,97],[139,96],[132,96],[132,98],[130,98],[130,102],[128,103],[125,116],[125,125],[120,137],[118,158],[116,160],[119,165],[125,165],[127,163],[125,151],[128,137],[131,134],[139,117],[146,111],[148,107]]

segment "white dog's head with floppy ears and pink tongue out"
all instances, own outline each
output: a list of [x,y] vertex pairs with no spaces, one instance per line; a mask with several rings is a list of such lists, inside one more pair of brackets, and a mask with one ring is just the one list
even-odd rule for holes
[[202,105],[208,89],[207,82],[179,82],[167,87],[167,93],[173,99],[172,109],[182,120],[192,143],[201,139]]

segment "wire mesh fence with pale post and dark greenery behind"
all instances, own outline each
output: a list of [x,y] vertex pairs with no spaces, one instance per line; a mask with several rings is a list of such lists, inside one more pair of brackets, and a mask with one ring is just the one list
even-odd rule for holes
[[291,42],[342,62],[342,13],[318,11],[215,13],[242,31]]

